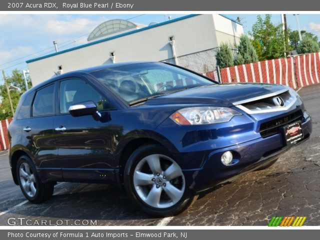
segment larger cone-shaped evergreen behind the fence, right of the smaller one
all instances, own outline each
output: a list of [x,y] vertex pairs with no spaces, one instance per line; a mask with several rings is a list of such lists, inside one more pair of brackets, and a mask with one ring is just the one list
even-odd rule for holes
[[258,61],[258,56],[256,55],[254,46],[250,39],[246,35],[242,34],[240,36],[239,45],[237,46],[235,64],[240,65],[256,61]]

